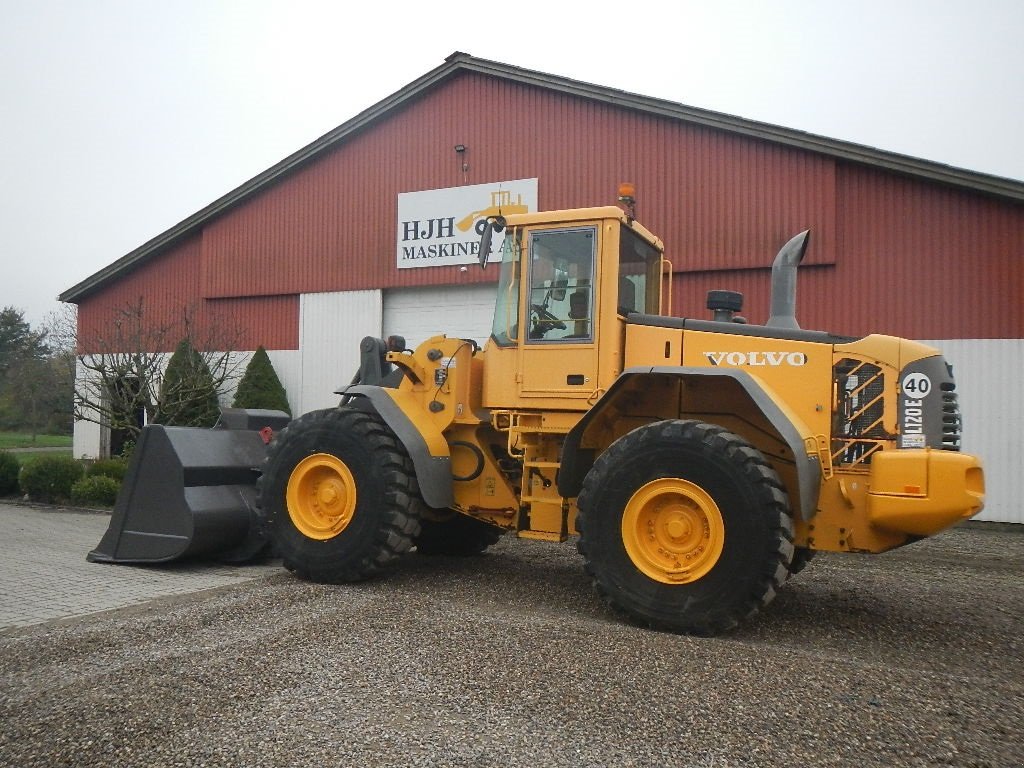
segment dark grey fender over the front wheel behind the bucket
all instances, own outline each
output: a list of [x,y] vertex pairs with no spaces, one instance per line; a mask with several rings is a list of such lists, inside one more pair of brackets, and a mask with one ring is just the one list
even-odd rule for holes
[[[395,437],[404,446],[409,458],[413,460],[420,495],[428,507],[446,509],[455,504],[452,462],[444,436],[436,430],[432,430],[436,434],[432,433],[432,428],[428,424],[421,424],[418,427],[395,400],[397,390],[371,384],[356,384],[341,389],[339,393],[347,397],[365,398],[391,428]],[[358,407],[357,402],[358,400],[355,400],[351,404]],[[440,453],[443,455],[438,455]]]

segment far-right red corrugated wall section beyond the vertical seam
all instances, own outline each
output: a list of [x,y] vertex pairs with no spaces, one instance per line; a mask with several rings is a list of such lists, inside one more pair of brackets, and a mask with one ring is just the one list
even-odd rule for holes
[[833,312],[860,332],[1024,338],[1024,206],[850,165],[838,178]]

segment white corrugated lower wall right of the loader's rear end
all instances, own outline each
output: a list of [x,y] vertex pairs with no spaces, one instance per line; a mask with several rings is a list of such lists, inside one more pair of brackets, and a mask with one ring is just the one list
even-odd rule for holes
[[953,367],[964,433],[981,457],[985,509],[976,519],[1024,523],[1024,339],[926,341]]

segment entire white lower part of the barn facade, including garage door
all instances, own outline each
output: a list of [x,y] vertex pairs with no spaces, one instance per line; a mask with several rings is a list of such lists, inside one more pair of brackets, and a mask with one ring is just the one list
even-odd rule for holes
[[[410,347],[441,333],[482,343],[489,333],[494,295],[494,286],[304,294],[299,349],[269,352],[292,414],[338,403],[334,390],[358,370],[365,336],[398,334]],[[962,447],[984,462],[986,504],[978,519],[1024,523],[1024,339],[924,343],[937,347],[953,366],[964,418]],[[240,372],[251,355],[240,353]],[[229,402],[230,395],[225,398]],[[102,456],[105,434],[97,424],[76,422],[74,455]]]

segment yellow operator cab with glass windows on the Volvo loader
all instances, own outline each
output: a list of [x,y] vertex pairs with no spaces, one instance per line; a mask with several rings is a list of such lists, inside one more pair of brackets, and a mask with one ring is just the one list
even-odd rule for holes
[[[662,244],[612,207],[517,215],[499,225],[485,390],[504,394],[487,404],[544,397],[585,408],[622,372],[626,316],[660,311]],[[489,247],[487,233],[481,248]],[[499,386],[498,377],[515,386]]]

